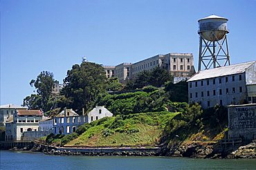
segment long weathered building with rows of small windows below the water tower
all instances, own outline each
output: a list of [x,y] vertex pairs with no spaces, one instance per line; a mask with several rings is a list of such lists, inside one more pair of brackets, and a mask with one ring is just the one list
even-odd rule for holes
[[188,80],[188,99],[203,108],[256,103],[256,62],[199,71]]

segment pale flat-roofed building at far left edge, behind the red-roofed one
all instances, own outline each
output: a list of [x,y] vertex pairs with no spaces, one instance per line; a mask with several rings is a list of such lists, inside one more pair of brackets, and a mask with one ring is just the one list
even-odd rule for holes
[[17,109],[26,110],[28,107],[17,106],[15,104],[5,104],[0,106],[0,123],[5,124],[6,120],[8,120],[8,118],[10,118]]

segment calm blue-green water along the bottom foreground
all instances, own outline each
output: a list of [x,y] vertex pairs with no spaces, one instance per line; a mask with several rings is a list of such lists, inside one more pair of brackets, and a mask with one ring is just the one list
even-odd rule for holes
[[256,169],[256,160],[169,157],[90,157],[0,151],[0,169]]

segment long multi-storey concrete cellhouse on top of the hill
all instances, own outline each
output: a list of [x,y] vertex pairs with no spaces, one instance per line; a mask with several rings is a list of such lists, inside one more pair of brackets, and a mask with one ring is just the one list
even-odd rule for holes
[[118,77],[120,83],[128,79],[135,79],[138,73],[152,70],[156,66],[168,70],[174,76],[174,82],[191,77],[194,71],[194,59],[192,53],[168,53],[155,55],[134,64],[122,63],[118,66],[103,66],[106,77]]

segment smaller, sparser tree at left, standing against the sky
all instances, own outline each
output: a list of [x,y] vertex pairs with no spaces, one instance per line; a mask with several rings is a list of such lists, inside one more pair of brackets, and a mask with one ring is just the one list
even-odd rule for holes
[[30,86],[37,89],[37,94],[32,94],[24,99],[24,106],[28,106],[31,109],[39,109],[48,111],[48,102],[52,96],[53,86],[58,83],[53,79],[53,73],[48,71],[41,72],[37,79],[31,79]]

